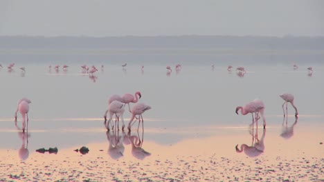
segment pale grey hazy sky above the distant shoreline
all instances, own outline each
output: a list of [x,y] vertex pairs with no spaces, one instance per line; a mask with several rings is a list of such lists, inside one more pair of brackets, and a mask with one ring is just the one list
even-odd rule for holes
[[1,35],[324,36],[318,0],[0,0]]

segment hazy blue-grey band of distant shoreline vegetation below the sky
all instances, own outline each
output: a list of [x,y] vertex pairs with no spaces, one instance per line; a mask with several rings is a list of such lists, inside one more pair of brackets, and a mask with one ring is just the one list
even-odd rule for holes
[[0,36],[0,49],[217,49],[324,50],[324,37],[156,36],[156,37],[28,37]]

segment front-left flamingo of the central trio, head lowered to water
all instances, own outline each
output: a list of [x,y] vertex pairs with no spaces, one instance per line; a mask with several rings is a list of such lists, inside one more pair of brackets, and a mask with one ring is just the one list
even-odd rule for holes
[[112,117],[116,116],[115,123],[118,122],[118,130],[119,130],[119,117],[121,118],[121,121],[123,122],[123,126],[122,126],[122,130],[124,130],[125,128],[125,124],[124,124],[124,119],[123,119],[123,114],[124,114],[124,103],[120,102],[120,101],[112,101],[109,105],[108,105],[108,109],[105,112],[104,118],[105,118],[105,125],[106,125],[106,121],[107,121],[107,112],[109,112],[109,119],[108,119],[108,123],[106,125],[107,130],[109,131],[109,123],[112,119]]

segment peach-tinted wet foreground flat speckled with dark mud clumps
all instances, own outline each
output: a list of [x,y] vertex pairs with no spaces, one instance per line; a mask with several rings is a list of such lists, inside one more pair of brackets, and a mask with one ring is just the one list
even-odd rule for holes
[[[210,126],[207,132],[182,128],[191,136],[169,144],[147,137],[157,134],[154,128],[131,134],[100,130],[107,141],[87,143],[88,154],[73,151],[81,145],[59,148],[57,154],[30,149],[27,159],[21,160],[19,149],[0,150],[0,180],[324,181],[324,149],[320,143],[323,132],[320,128],[297,126],[289,138],[282,135],[280,125],[259,128],[256,138],[245,126]],[[312,132],[307,132],[310,129]],[[174,130],[167,129],[163,134],[171,132]],[[262,152],[254,156],[247,150],[237,152],[235,145],[240,149],[243,143]],[[21,148],[26,147],[26,143],[22,144]]]

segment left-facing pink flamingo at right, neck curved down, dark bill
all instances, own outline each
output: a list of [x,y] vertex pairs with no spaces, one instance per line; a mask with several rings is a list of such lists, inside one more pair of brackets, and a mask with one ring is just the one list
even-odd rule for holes
[[258,128],[258,114],[260,112],[262,119],[263,119],[263,128],[266,127],[266,121],[264,118],[264,103],[260,99],[255,99],[254,101],[251,101],[250,103],[247,103],[246,105],[237,106],[235,112],[238,114],[238,111],[241,110],[242,115],[246,115],[248,113],[252,114],[252,121],[254,123],[254,117],[253,113],[255,113],[255,120],[257,122],[257,128]]

